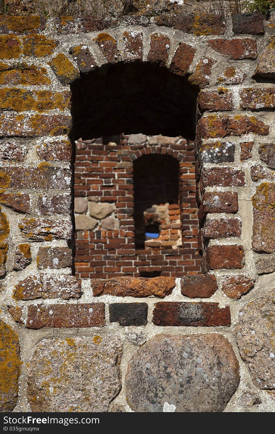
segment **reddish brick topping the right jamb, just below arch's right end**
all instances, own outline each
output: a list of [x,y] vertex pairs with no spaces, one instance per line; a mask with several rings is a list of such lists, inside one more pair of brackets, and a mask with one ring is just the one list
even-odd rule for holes
[[203,112],[205,110],[219,112],[234,108],[233,94],[229,89],[225,89],[224,87],[219,87],[217,90],[203,90],[199,92],[197,102]]

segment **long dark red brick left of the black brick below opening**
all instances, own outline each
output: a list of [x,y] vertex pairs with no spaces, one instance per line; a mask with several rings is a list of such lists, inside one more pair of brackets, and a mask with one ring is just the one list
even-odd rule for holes
[[28,306],[27,328],[100,327],[105,325],[104,303]]

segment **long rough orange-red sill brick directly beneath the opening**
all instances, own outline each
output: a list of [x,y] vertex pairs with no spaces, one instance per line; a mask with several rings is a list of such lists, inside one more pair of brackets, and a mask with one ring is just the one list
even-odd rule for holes
[[110,294],[119,297],[165,297],[175,288],[175,277],[114,277],[112,279],[91,279],[94,296]]

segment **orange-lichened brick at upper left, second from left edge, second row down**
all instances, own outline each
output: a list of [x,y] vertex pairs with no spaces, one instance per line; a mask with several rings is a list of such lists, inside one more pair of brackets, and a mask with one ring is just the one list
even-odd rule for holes
[[23,37],[23,54],[25,56],[44,57],[50,56],[57,46],[54,39],[44,35],[28,35]]

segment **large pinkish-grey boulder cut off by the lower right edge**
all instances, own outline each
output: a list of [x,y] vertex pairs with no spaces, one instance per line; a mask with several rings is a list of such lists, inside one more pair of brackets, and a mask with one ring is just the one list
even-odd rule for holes
[[255,385],[275,389],[275,291],[265,291],[239,314],[235,335],[242,359]]

